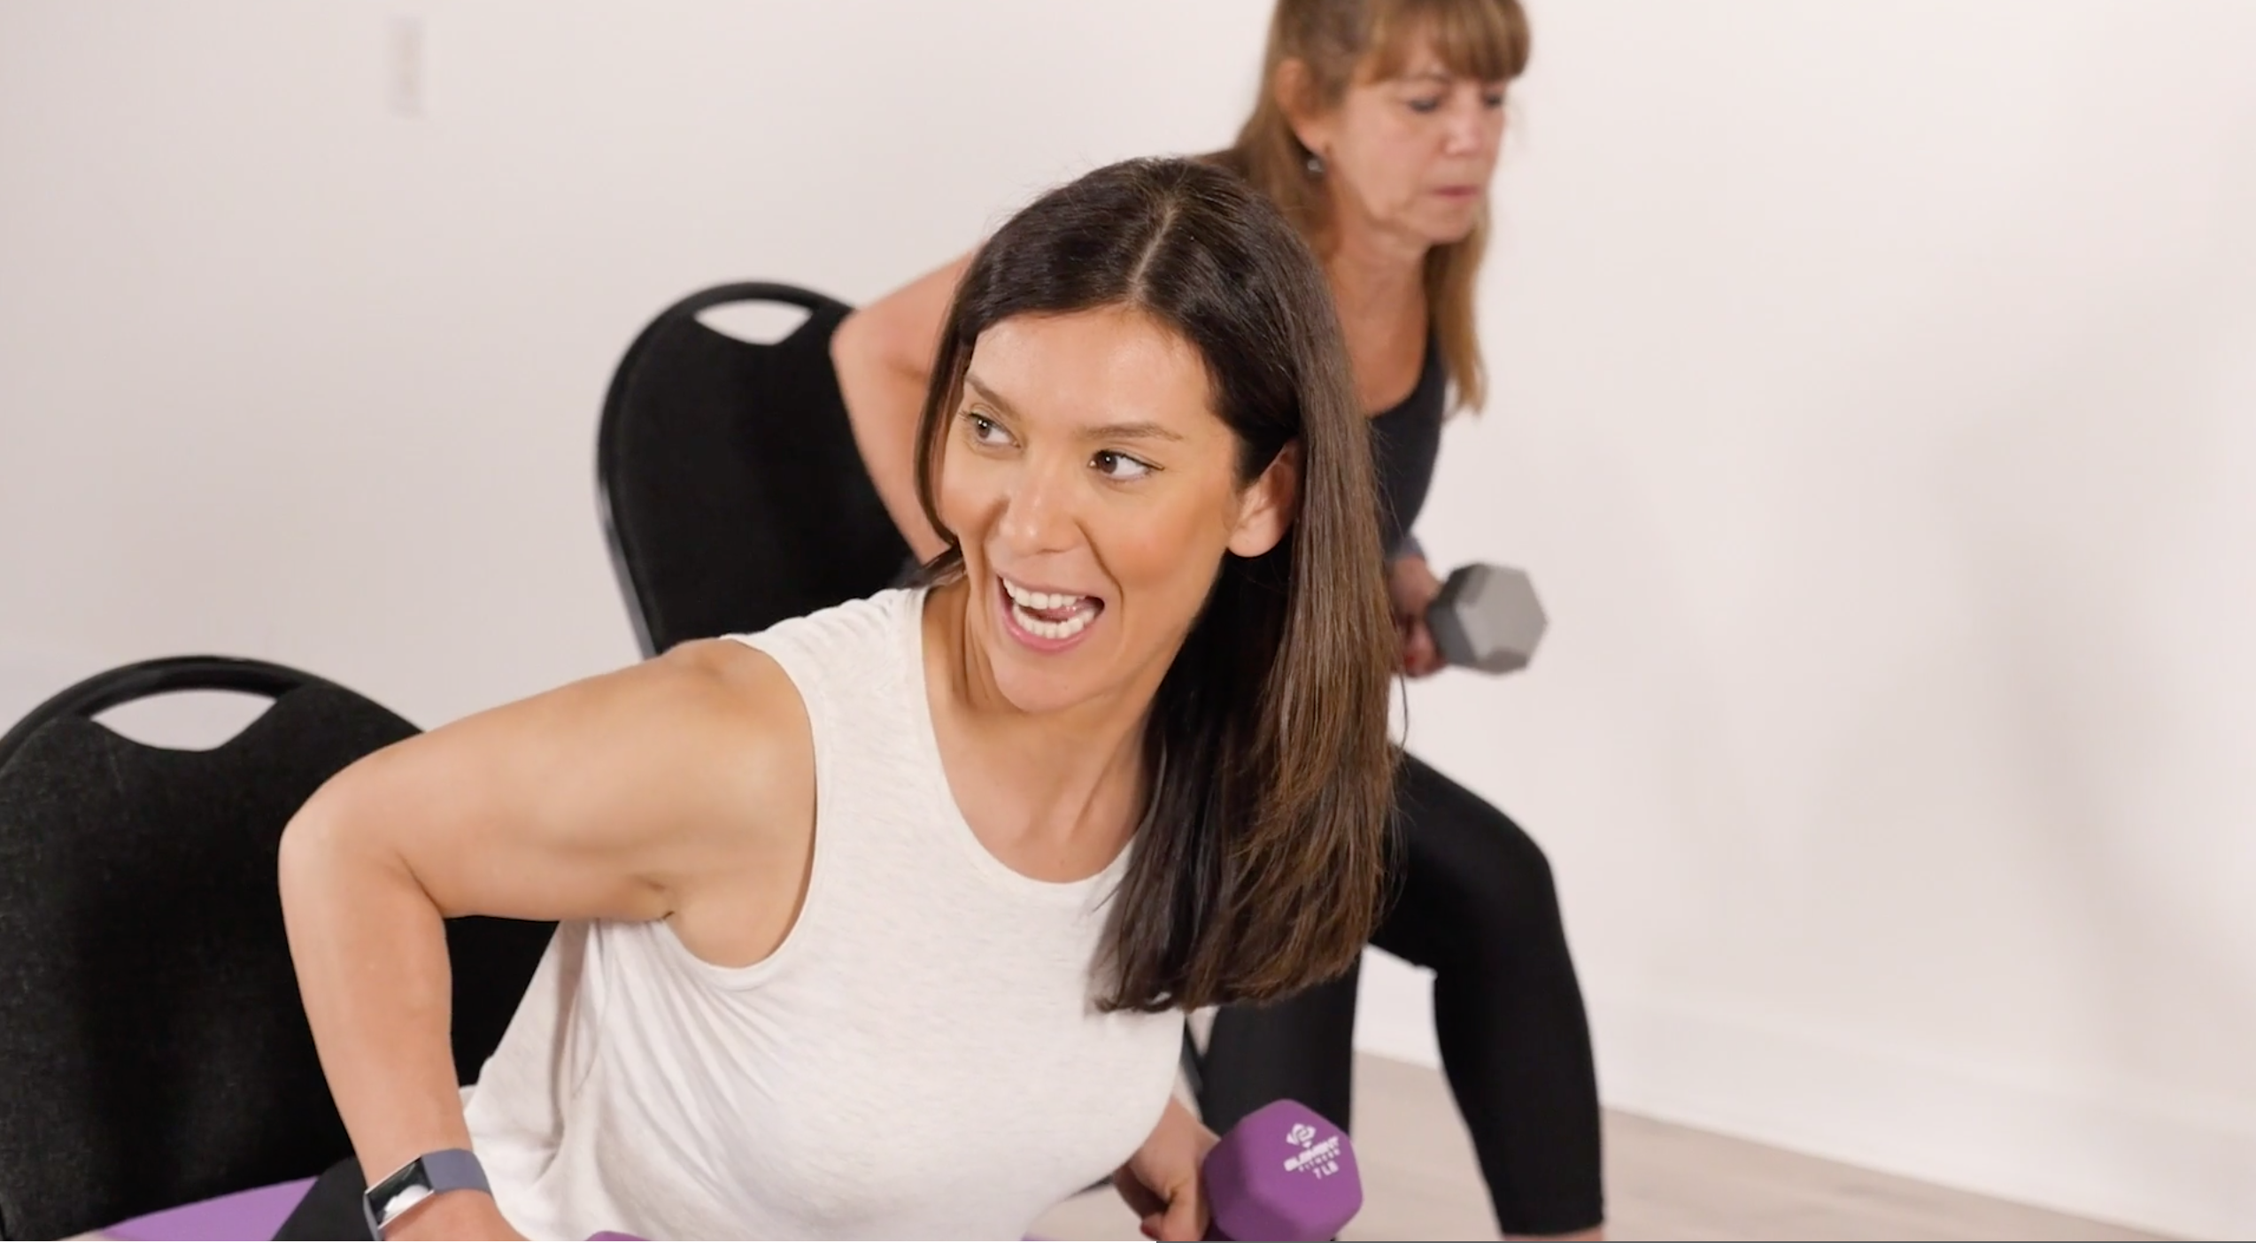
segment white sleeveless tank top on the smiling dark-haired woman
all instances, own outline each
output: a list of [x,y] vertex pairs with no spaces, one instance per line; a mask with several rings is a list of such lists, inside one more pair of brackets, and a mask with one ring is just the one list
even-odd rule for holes
[[1031,880],[972,835],[925,699],[923,591],[763,634],[814,724],[814,864],[749,968],[566,923],[469,1096],[532,1238],[1022,1238],[1166,1108],[1182,1015],[1096,1013],[1128,853]]

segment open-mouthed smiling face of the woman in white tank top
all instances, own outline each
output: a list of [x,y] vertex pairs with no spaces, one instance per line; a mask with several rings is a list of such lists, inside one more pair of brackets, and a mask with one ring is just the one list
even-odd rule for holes
[[1236,481],[1193,345],[1142,311],[1022,316],[972,347],[938,471],[966,638],[1020,711],[1151,695],[1225,553],[1290,526],[1295,453]]

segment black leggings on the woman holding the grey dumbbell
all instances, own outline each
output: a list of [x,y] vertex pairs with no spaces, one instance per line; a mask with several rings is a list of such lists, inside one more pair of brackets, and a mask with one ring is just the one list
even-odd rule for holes
[[[1433,1024],[1505,1234],[1604,1220],[1590,1024],[1550,862],[1417,756],[1396,776],[1399,875],[1372,945],[1430,968]],[[1214,1017],[1200,1108],[1216,1132],[1290,1096],[1349,1126],[1356,977]]]

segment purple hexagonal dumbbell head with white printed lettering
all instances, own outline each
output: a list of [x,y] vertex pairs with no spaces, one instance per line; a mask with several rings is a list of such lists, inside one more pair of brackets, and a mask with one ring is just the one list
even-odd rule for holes
[[1245,1114],[1207,1153],[1207,1238],[1336,1238],[1363,1207],[1347,1132],[1299,1101]]

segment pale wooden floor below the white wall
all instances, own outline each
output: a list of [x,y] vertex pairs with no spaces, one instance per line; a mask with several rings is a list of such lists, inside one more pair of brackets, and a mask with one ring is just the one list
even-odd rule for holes
[[[1356,1063],[1363,1214],[1342,1238],[1498,1238],[1473,1148],[1437,1072]],[[1609,1238],[2157,1238],[1764,1148],[1606,1114]],[[1112,1191],[1078,1196],[1042,1238],[1142,1238]]]

